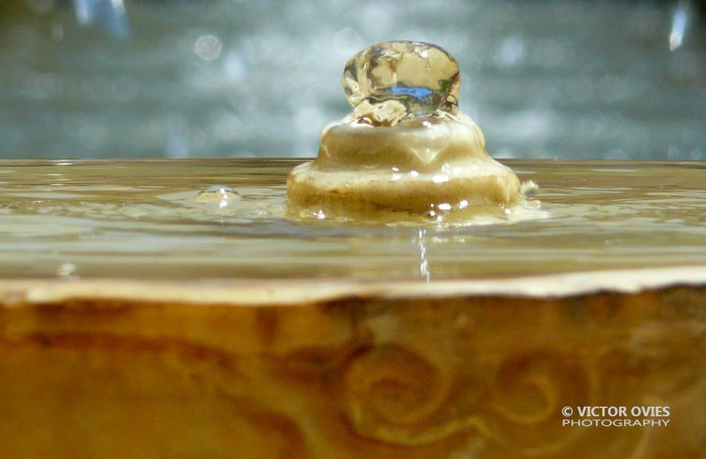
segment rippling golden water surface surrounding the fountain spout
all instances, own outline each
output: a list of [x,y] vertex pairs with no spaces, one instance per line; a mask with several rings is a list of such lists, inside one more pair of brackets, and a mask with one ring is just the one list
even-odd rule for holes
[[3,278],[497,278],[706,262],[706,165],[528,162],[549,216],[297,223],[297,160],[0,162]]

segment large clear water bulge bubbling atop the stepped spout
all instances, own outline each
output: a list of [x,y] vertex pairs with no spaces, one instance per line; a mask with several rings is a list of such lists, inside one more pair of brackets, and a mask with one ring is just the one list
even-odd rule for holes
[[456,114],[459,81],[458,64],[440,47],[383,42],[348,61],[343,90],[360,121],[394,126],[407,117]]

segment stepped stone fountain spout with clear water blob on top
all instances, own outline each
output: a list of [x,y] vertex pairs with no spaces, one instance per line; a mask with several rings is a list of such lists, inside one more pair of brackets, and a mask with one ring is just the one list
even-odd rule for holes
[[292,214],[462,225],[525,205],[517,176],[458,111],[459,83],[455,59],[433,44],[384,42],[353,56],[343,75],[353,113],[326,126],[316,160],[289,174]]

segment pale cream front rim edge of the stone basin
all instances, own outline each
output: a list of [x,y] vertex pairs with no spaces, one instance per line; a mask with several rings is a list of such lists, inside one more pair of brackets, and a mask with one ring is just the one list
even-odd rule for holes
[[[274,285],[276,283],[276,285]],[[462,297],[566,298],[600,292],[635,294],[668,287],[706,287],[706,265],[532,275],[489,280],[127,280],[4,279],[0,307],[61,302],[297,306],[345,299]]]

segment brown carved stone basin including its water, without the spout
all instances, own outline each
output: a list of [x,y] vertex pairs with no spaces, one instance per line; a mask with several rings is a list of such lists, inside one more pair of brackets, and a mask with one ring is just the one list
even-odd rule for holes
[[443,228],[288,220],[299,162],[0,161],[0,457],[706,454],[705,165]]

